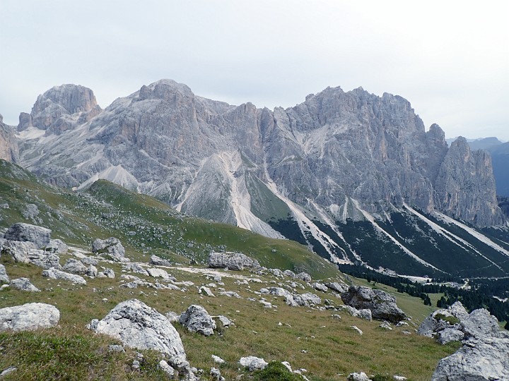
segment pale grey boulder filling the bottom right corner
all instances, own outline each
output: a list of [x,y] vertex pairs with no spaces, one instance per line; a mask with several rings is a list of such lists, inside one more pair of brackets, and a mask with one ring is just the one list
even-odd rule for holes
[[469,340],[440,360],[432,381],[509,380],[509,338]]

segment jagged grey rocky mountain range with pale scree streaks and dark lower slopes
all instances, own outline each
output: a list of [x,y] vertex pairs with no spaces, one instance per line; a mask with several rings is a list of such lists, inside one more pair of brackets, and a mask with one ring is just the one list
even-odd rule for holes
[[172,80],[106,109],[86,87],[56,86],[16,128],[1,126],[0,155],[54,186],[107,179],[332,262],[435,277],[509,271],[491,156],[464,138],[449,147],[406,99],[361,87],[269,110]]

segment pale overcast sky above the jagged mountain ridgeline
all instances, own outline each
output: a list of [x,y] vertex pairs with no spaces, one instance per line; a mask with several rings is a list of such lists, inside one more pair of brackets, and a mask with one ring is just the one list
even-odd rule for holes
[[291,107],[327,86],[408,99],[447,138],[509,140],[509,1],[0,0],[0,113],[54,85],[101,107],[162,78]]

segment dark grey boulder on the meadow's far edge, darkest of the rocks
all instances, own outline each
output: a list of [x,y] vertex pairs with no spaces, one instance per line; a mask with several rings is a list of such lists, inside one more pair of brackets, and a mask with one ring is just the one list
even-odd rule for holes
[[343,302],[357,309],[371,310],[374,319],[399,322],[406,319],[405,313],[396,305],[396,298],[385,291],[363,286],[350,286],[341,294]]

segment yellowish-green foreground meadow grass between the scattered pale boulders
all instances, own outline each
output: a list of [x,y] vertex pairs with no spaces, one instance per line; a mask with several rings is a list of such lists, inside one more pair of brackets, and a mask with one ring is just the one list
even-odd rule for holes
[[[62,257],[62,263],[66,260]],[[433,339],[419,337],[412,327],[399,327],[387,332],[380,329],[380,322],[367,322],[346,313],[340,313],[342,319],[332,318],[331,311],[320,311],[310,308],[291,308],[286,306],[282,298],[266,296],[267,300],[276,304],[277,309],[264,308],[257,301],[248,298],[259,298],[253,291],[258,291],[264,286],[271,286],[272,277],[260,277],[267,284],[250,283],[249,287],[235,284],[235,279],[223,276],[223,286],[228,291],[236,291],[242,299],[228,298],[227,296],[204,297],[197,293],[197,287],[211,282],[201,274],[192,274],[179,268],[169,270],[177,281],[190,280],[195,286],[188,287],[184,291],[156,291],[153,289],[124,289],[119,288],[119,265],[111,265],[117,273],[116,279],[88,279],[87,286],[71,286],[66,282],[45,279],[41,276],[41,269],[33,265],[13,264],[5,256],[0,262],[6,265],[11,278],[29,277],[33,284],[43,291],[37,294],[22,293],[21,291],[7,289],[0,291],[0,307],[19,305],[28,302],[52,303],[61,311],[59,329],[34,334],[35,338],[20,346],[19,340],[25,340],[26,334],[0,334],[1,349],[4,356],[0,356],[0,368],[15,365],[19,366],[21,373],[35,378],[39,377],[45,368],[44,356],[35,363],[25,363],[23,360],[28,356],[27,351],[41,350],[37,343],[44,341],[45,337],[53,337],[58,343],[64,343],[69,348],[79,344],[68,343],[77,334],[78,339],[83,340],[83,356],[90,358],[90,378],[99,379],[104,374],[115,372],[125,373],[125,377],[139,377],[140,379],[158,379],[155,363],[156,358],[148,354],[149,362],[145,373],[132,373],[129,363],[134,358],[134,353],[112,358],[114,365],[107,365],[106,370],[101,370],[107,361],[110,361],[105,352],[107,344],[114,344],[115,340],[107,337],[96,337],[87,332],[83,327],[93,318],[103,317],[111,308],[120,301],[128,298],[139,298],[148,306],[156,308],[160,313],[174,311],[180,313],[192,303],[200,304],[211,315],[226,315],[235,322],[235,326],[221,329],[221,334],[212,337],[203,337],[192,334],[178,324],[175,324],[180,332],[184,343],[187,357],[190,363],[198,368],[204,368],[206,372],[215,364],[211,355],[215,354],[227,361],[221,365],[221,372],[232,380],[239,374],[237,363],[241,356],[261,356],[266,361],[289,361],[294,368],[305,368],[309,371],[310,380],[345,380],[346,375],[354,371],[364,371],[368,374],[399,374],[409,377],[410,380],[429,380],[436,363],[440,358],[452,353],[457,346],[455,344],[440,346]],[[108,265],[110,266],[110,265]],[[233,272],[224,272],[232,274]],[[238,274],[235,272],[235,274]],[[242,272],[251,276],[247,272]],[[138,275],[138,274],[136,274]],[[143,277],[142,277],[143,278]],[[154,282],[153,279],[147,280]],[[281,282],[281,281],[279,281]],[[92,290],[95,288],[95,292]],[[341,304],[339,298],[332,294],[325,295],[319,291],[303,289],[299,292],[312,291],[321,298],[329,298],[334,304]],[[217,294],[216,289],[213,292]],[[103,301],[107,298],[107,301]],[[409,298],[410,299],[410,298]],[[402,306],[410,305],[409,301],[398,299]],[[410,312],[407,310],[406,312]],[[283,325],[279,325],[281,322]],[[361,328],[364,334],[357,334],[351,325]],[[410,336],[402,333],[404,330],[411,331]],[[303,353],[302,350],[307,351]],[[18,357],[19,356],[19,357]],[[74,357],[64,356],[58,369],[60,372],[70,372]],[[38,365],[37,365],[38,364]],[[411,366],[409,366],[411,364]],[[110,368],[108,368],[110,367]],[[64,369],[64,370],[62,370]],[[123,370],[122,370],[123,369]],[[52,371],[47,370],[48,372]],[[74,371],[74,370],[73,370]],[[25,373],[23,373],[25,372]],[[242,371],[240,372],[242,373]],[[18,377],[13,378],[18,379]],[[124,377],[124,376],[122,376]],[[122,379],[121,377],[121,379]],[[62,377],[65,378],[65,377]],[[70,379],[78,379],[78,377]],[[206,379],[206,378],[205,378]]]

